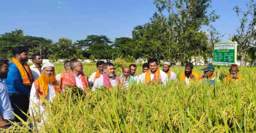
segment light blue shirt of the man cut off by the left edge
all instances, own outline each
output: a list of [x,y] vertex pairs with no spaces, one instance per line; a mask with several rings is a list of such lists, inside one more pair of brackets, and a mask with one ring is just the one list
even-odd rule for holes
[[7,86],[0,79],[0,112],[3,119],[14,119],[12,104],[8,95]]

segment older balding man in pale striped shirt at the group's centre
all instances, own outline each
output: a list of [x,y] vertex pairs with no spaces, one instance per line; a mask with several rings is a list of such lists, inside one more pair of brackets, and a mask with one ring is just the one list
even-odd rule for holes
[[129,85],[133,85],[133,79],[130,76],[130,67],[124,67],[122,73],[119,75],[121,84],[128,88]]

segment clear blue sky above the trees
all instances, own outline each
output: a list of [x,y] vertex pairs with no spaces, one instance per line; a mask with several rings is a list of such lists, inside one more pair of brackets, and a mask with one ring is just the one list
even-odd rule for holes
[[[212,0],[212,8],[220,18],[212,25],[228,41],[236,33],[239,21],[234,5],[246,9],[249,0]],[[2,0],[0,2],[0,34],[22,29],[25,35],[44,37],[57,42],[72,42],[87,35],[106,35],[111,41],[129,34],[133,27],[150,21],[156,12],[153,0]],[[203,27],[202,30],[207,30]]]

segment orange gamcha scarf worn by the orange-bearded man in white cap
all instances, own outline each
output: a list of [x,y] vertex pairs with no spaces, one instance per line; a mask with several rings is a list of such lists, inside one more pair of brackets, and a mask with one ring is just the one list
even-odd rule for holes
[[[39,78],[37,78],[34,82],[34,86],[35,86],[35,94],[41,95],[42,98],[46,99],[47,94],[48,94],[48,84],[52,83],[53,84],[53,88],[55,91],[55,96],[60,93],[60,87],[59,84],[57,82],[57,80],[54,78],[55,74],[52,77],[47,77],[45,74],[42,74]],[[43,99],[42,99],[42,103],[41,105],[43,105]]]

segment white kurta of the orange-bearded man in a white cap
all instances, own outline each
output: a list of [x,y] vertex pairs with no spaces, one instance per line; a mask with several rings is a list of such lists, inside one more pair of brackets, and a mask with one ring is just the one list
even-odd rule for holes
[[[52,102],[52,100],[54,98],[55,98],[55,91],[54,91],[54,88],[53,88],[53,84],[49,83],[48,84],[48,94],[47,94],[46,100]],[[41,103],[42,103],[42,101],[41,101],[39,95],[36,94],[35,86],[34,86],[34,83],[33,83],[32,87],[31,87],[31,91],[30,91],[30,100],[29,100],[29,114],[30,114],[30,116],[32,116],[32,111],[33,111],[34,116],[41,115],[43,113],[44,105],[41,106]],[[43,118],[45,119],[45,115],[44,115]]]

